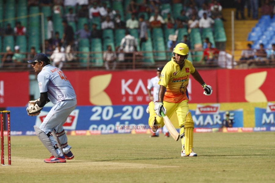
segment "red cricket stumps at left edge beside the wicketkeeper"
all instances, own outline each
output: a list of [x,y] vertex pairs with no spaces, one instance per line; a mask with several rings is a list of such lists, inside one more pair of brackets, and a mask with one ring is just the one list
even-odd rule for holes
[[0,126],[1,126],[1,164],[5,165],[4,161],[4,113],[8,117],[8,165],[11,165],[11,148],[10,148],[10,111],[0,111]]

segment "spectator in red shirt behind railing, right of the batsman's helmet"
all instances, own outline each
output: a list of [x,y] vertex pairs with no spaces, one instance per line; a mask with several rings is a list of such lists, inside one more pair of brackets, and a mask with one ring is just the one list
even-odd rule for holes
[[218,64],[218,54],[218,49],[212,48],[212,43],[208,42],[207,48],[204,49],[204,54],[200,60],[200,63],[206,61],[206,64],[208,64],[210,67],[215,67]]

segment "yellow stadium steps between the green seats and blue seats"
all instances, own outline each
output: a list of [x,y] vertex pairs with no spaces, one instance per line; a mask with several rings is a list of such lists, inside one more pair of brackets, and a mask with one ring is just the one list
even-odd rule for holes
[[[224,21],[224,28],[226,31],[226,51],[232,52],[232,30],[231,30],[231,12],[234,11],[234,16],[236,9],[227,8],[222,10],[222,15],[226,21]],[[258,20],[252,20],[247,16],[247,9],[244,11],[244,16],[246,20],[235,20],[234,21],[234,39],[235,39],[235,49],[245,49],[248,43],[247,38],[252,27],[255,27]],[[239,15],[240,17],[240,15]],[[235,55],[240,55],[239,51],[235,51]],[[237,58],[236,58],[237,59]]]

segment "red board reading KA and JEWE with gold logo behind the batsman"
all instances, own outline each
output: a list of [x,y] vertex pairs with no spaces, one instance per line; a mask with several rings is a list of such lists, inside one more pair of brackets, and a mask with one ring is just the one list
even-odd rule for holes
[[[156,71],[66,71],[77,95],[78,105],[148,104],[147,85]],[[207,84],[216,90],[216,71],[200,71]],[[192,77],[189,98],[193,103],[217,102],[217,93],[205,96]]]

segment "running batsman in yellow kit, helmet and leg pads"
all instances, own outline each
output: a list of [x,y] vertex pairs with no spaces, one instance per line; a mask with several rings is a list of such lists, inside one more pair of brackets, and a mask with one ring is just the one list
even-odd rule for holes
[[212,87],[207,85],[193,64],[187,60],[189,48],[185,43],[178,43],[173,49],[172,59],[164,66],[160,80],[158,102],[149,103],[149,126],[164,125],[161,112],[171,118],[176,112],[182,141],[181,156],[197,156],[193,152],[194,122],[189,112],[187,86],[190,74],[201,84],[205,95],[212,94]]

